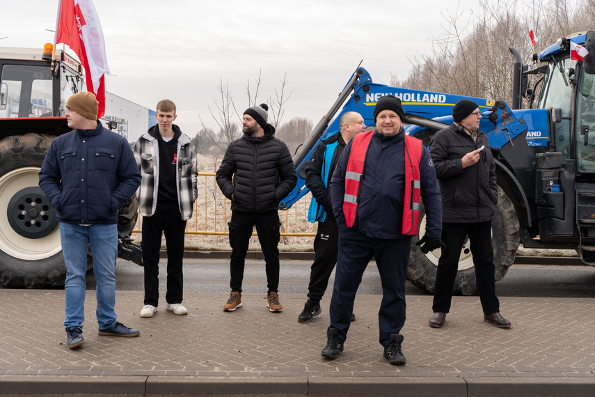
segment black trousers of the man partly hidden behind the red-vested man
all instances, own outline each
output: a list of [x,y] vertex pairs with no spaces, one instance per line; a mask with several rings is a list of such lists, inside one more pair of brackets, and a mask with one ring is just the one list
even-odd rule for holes
[[337,263],[339,251],[339,228],[332,215],[326,214],[324,222],[318,222],[314,238],[314,262],[310,267],[308,298],[319,303],[328,286],[328,279]]

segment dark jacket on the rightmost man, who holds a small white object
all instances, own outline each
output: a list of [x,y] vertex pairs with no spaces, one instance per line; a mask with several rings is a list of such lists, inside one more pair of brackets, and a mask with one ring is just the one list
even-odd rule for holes
[[[485,148],[479,161],[463,169],[463,156],[482,146]],[[498,202],[498,184],[486,134],[478,130],[474,142],[453,123],[436,132],[429,143],[429,153],[440,183],[442,221],[462,224],[491,220]]]

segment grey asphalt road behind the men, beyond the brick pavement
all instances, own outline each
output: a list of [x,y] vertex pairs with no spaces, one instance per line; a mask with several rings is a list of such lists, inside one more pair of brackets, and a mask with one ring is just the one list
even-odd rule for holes
[[[280,293],[305,294],[310,277],[309,260],[284,260],[280,270]],[[165,260],[161,264],[160,288],[165,290]],[[264,261],[247,260],[244,274],[246,293],[266,288]],[[88,289],[95,289],[95,278],[88,274]],[[334,272],[329,285],[332,286]],[[143,290],[143,268],[118,259],[118,290]],[[229,262],[226,259],[184,260],[184,289],[190,292],[228,292]],[[502,297],[595,297],[595,268],[573,265],[513,265],[506,277],[496,283]],[[331,287],[327,289],[331,293]],[[368,266],[358,293],[382,293],[376,267]],[[425,290],[406,284],[407,295],[429,295]]]

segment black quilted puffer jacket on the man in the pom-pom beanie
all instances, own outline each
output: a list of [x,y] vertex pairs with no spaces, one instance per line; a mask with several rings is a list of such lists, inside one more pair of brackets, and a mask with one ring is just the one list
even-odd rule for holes
[[217,185],[232,200],[232,211],[272,212],[297,182],[287,145],[274,137],[267,124],[264,137],[244,135],[225,150],[217,170]]

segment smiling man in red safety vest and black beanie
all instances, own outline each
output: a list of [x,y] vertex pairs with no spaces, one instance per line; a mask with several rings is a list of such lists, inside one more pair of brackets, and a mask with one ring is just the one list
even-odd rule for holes
[[424,252],[440,247],[441,197],[434,164],[419,139],[402,127],[399,98],[386,95],[374,107],[376,130],[357,135],[339,159],[331,180],[333,213],[339,226],[339,254],[331,326],[324,357],[343,351],[356,291],[372,256],[382,279],[379,341],[390,364],[405,364],[405,281],[411,236],[418,233],[420,200],[426,211]]

